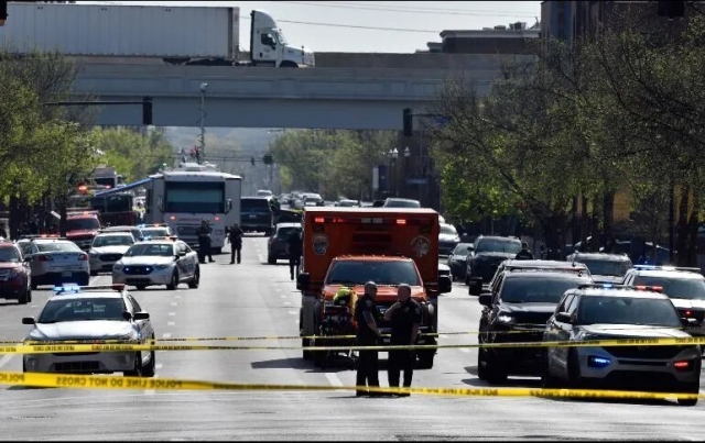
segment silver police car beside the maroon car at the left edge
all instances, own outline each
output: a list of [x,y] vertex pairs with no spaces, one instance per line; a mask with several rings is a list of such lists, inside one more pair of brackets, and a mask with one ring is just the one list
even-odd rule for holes
[[32,269],[32,289],[43,285],[88,285],[88,254],[62,237],[26,237],[18,242]]

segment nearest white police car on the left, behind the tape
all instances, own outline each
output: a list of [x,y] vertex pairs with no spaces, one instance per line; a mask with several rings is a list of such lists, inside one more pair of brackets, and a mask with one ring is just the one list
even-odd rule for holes
[[[99,342],[124,340],[147,344],[154,340],[150,314],[124,290],[123,285],[56,288],[39,319],[22,319],[32,329],[24,339],[36,342]],[[110,374],[153,377],[154,352],[88,352],[25,354],[25,373]]]

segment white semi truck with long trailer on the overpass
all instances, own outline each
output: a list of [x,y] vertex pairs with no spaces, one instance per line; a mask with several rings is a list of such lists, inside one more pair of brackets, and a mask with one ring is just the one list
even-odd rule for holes
[[202,66],[313,67],[265,11],[250,14],[249,53],[240,51],[240,9],[9,2],[0,44],[14,53],[58,51],[73,57],[158,58]]

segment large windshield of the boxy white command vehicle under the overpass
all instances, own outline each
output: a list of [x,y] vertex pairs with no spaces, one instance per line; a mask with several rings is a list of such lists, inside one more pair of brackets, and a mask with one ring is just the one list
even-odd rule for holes
[[164,212],[223,213],[223,181],[166,181]]

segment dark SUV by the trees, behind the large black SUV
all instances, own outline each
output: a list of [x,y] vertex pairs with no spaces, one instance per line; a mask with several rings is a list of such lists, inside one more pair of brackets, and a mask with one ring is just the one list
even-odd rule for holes
[[473,286],[489,283],[499,264],[507,258],[514,258],[519,251],[521,251],[521,241],[517,237],[477,237],[475,251],[465,261],[465,284]]

